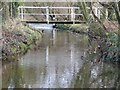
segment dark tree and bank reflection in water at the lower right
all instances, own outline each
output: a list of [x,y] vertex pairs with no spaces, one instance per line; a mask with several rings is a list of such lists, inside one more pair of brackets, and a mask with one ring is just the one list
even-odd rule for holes
[[[107,63],[85,63],[75,77],[76,88],[120,88],[119,67]],[[89,67],[87,67],[89,66]]]

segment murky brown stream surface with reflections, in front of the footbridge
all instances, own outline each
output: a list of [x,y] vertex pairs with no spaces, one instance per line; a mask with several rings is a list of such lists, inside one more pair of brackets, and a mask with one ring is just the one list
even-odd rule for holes
[[[119,70],[109,64],[85,62],[87,36],[45,31],[38,49],[3,65],[2,87],[119,87]],[[116,82],[117,81],[117,82]]]

